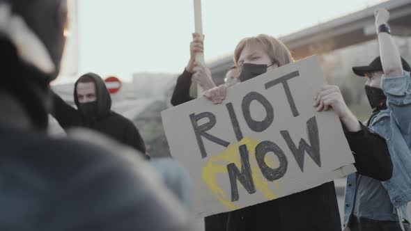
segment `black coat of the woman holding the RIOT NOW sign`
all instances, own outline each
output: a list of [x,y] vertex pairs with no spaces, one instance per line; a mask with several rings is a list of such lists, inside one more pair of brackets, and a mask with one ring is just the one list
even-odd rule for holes
[[[359,132],[345,134],[357,172],[377,180],[389,180],[392,162],[385,140],[365,126]],[[231,212],[227,230],[341,230],[334,182]]]

